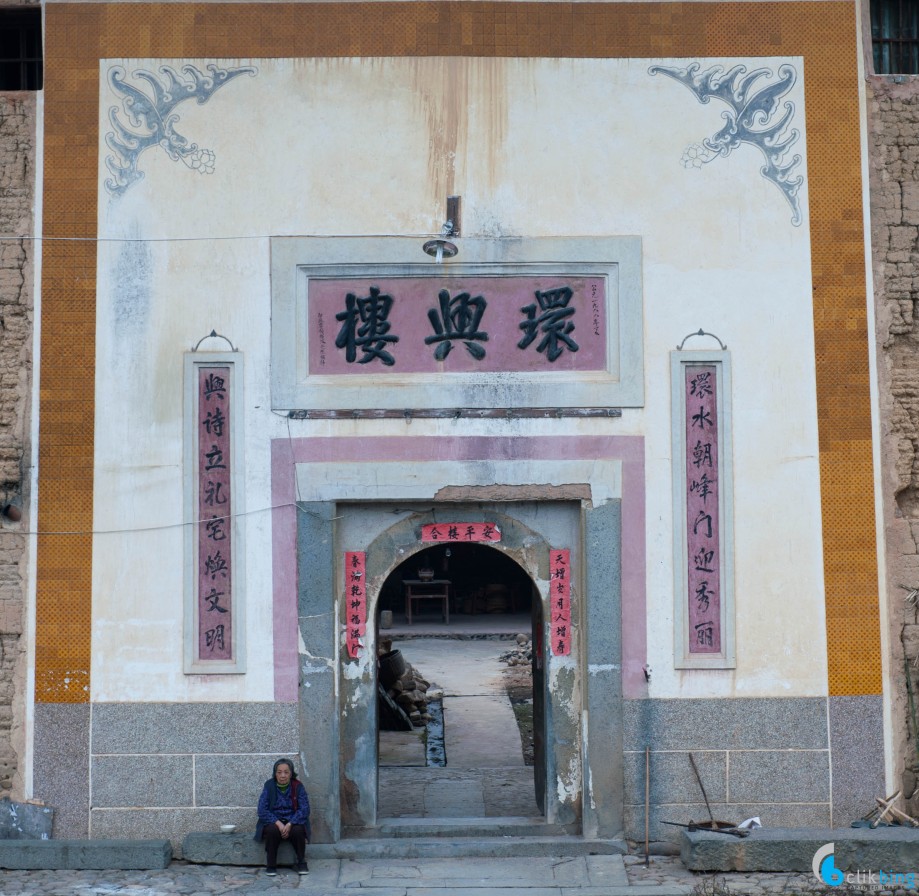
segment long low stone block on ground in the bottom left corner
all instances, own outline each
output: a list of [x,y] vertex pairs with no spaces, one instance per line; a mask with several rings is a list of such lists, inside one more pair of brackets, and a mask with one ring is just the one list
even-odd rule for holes
[[0,840],[11,871],[158,870],[172,861],[168,840]]

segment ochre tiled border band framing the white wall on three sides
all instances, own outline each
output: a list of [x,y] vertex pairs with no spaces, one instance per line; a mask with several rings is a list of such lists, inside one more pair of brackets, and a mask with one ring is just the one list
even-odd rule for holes
[[[852,2],[48,4],[35,698],[89,700],[101,58],[802,56],[831,695],[881,692]],[[740,521],[739,521],[740,522]],[[756,600],[738,583],[738,601]],[[738,645],[739,653],[743,645]]]

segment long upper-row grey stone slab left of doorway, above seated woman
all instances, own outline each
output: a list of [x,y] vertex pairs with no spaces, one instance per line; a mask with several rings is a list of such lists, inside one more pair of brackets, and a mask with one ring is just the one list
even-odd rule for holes
[[97,703],[94,753],[297,755],[296,703]]

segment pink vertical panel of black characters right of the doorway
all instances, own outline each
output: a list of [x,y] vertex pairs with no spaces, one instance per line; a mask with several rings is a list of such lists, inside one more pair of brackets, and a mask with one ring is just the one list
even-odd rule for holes
[[684,377],[689,652],[720,653],[717,369],[687,365]]

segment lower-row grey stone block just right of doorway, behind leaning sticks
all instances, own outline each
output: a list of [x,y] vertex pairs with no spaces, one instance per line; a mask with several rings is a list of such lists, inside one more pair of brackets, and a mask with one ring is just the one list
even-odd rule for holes
[[[699,776],[710,801],[723,802],[727,793],[727,754],[701,750],[693,753]],[[702,799],[689,753],[651,753],[651,802],[694,803]],[[645,754],[624,756],[625,801],[644,804]]]

